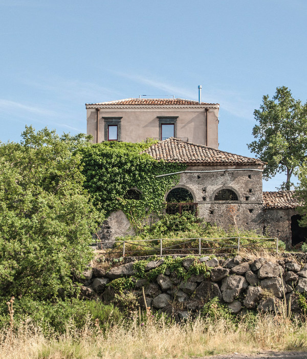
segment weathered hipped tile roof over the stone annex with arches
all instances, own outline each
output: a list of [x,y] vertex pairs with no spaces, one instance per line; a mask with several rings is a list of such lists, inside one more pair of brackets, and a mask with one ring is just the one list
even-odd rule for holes
[[256,158],[184,142],[173,137],[150,146],[145,152],[158,160],[164,159],[166,162],[179,162],[189,165],[264,165],[264,162]]

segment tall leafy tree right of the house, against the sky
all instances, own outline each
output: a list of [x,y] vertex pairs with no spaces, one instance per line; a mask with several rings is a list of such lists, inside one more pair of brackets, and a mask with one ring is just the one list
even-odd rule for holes
[[254,111],[258,124],[253,128],[256,141],[248,145],[261,161],[267,162],[264,177],[286,171],[287,180],[281,189],[290,190],[291,176],[307,153],[307,103],[295,100],[287,87],[262,97],[262,105]]

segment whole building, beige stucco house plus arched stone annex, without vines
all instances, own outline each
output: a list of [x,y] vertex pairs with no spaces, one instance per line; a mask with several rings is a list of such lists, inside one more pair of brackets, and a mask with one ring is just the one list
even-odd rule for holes
[[[206,222],[254,229],[288,246],[305,241],[294,193],[262,193],[264,162],[218,150],[218,109],[218,104],[180,98],[86,104],[87,134],[97,143],[155,138],[159,142],[148,148],[149,155],[186,164],[178,185],[165,193],[166,213],[194,211]],[[124,234],[119,230],[128,228],[124,217],[111,215],[108,237]]]

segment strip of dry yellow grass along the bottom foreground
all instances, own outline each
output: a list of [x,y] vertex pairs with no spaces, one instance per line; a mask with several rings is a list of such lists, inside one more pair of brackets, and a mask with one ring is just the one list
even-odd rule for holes
[[233,324],[223,319],[202,318],[184,325],[164,324],[162,320],[139,327],[137,322],[122,324],[99,333],[86,326],[81,331],[68,328],[67,334],[43,335],[37,327],[25,324],[12,338],[0,335],[0,358],[189,358],[218,353],[253,353],[259,350],[306,349],[307,325],[287,317],[258,316],[256,322]]

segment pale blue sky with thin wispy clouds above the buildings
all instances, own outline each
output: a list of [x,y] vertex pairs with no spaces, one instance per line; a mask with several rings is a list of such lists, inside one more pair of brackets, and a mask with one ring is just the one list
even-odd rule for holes
[[85,132],[85,103],[198,99],[202,85],[220,149],[251,156],[262,95],[306,102],[306,14],[305,0],[0,0],[0,141],[25,125]]

